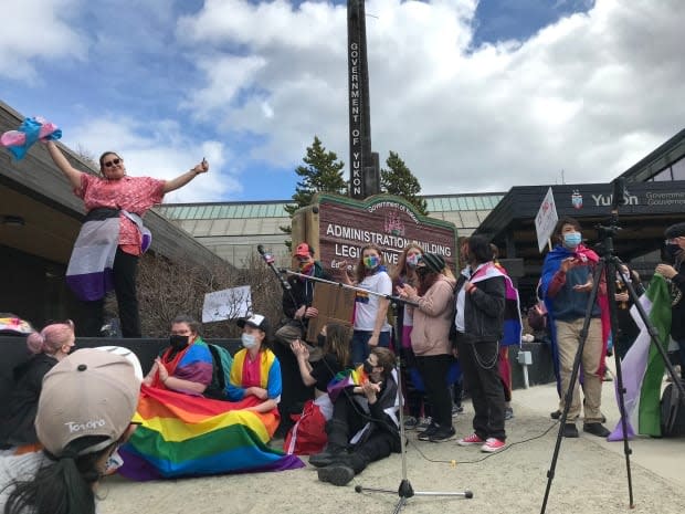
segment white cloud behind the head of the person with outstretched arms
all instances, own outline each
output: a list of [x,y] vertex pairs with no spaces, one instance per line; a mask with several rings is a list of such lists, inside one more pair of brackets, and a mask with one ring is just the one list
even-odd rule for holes
[[176,122],[157,123],[154,127],[127,117],[107,117],[75,127],[64,143],[71,148],[116,151],[131,176],[169,180],[185,174],[202,158],[210,170],[165,197],[165,202],[218,200],[241,190],[235,170],[229,165],[233,155],[223,143],[193,140]]

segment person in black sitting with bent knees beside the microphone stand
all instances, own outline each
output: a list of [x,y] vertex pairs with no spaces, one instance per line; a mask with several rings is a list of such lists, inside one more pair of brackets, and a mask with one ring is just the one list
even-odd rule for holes
[[[368,379],[337,391],[333,418],[326,423],[326,450],[309,458],[318,480],[346,485],[371,462],[400,451],[399,398],[394,356],[375,347],[363,363]],[[352,373],[350,376],[356,376]],[[351,438],[351,439],[350,439]]]

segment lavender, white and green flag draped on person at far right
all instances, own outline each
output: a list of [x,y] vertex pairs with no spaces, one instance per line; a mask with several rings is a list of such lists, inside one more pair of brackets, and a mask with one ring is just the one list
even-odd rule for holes
[[[671,293],[663,276],[654,275],[650,287],[640,297],[640,303],[658,332],[658,343],[667,348],[671,333]],[[621,361],[628,437],[632,439],[636,433],[661,437],[660,399],[664,360],[652,344],[652,337],[635,306],[631,308],[631,315],[640,328],[640,334]],[[623,439],[621,420],[607,439]]]

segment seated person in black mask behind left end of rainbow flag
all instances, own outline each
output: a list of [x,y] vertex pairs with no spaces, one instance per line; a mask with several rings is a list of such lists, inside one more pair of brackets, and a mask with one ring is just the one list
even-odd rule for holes
[[171,322],[169,347],[155,359],[143,382],[189,395],[202,395],[212,381],[212,355],[199,335],[200,324],[186,314]]

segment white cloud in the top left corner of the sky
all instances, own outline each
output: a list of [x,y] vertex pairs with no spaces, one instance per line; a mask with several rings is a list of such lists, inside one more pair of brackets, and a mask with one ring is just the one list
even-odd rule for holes
[[82,0],[8,0],[2,6],[0,77],[39,78],[34,60],[83,60],[85,39],[70,24],[68,13]]

